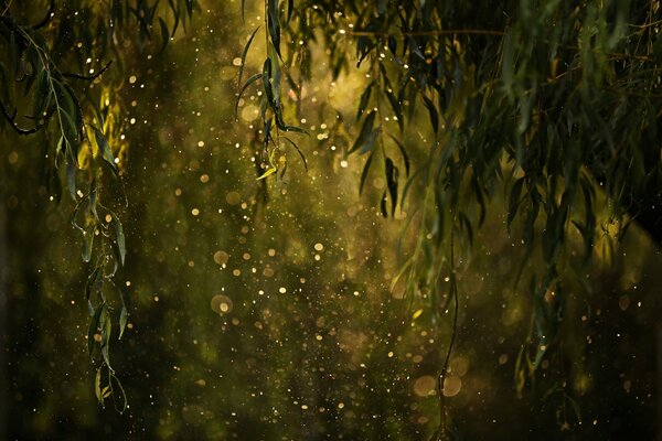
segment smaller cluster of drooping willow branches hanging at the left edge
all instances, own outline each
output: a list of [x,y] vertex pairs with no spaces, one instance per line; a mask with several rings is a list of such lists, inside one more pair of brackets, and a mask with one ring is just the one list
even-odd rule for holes
[[[105,292],[111,290],[119,300],[121,338],[128,322],[128,301],[114,276],[125,263],[126,239],[118,214],[102,203],[103,190],[113,194],[108,172],[124,194],[120,166],[126,149],[121,135],[125,123],[114,96],[124,83],[121,51],[136,31],[138,47],[152,40],[157,20],[164,47],[180,22],[186,25],[190,21],[194,3],[50,0],[43,4],[45,13],[36,19],[34,10],[39,8],[29,10],[12,3],[0,1],[0,110],[4,116],[0,128],[43,137],[44,154],[50,159],[44,178],[58,203],[61,176],[66,176],[67,193],[76,203],[71,223],[82,234],[81,257],[92,266],[85,287],[90,316],[88,354],[93,361],[97,349],[102,355],[95,391],[102,405],[113,396],[116,408],[122,411],[126,396],[110,365],[115,306]],[[110,67],[111,61],[103,62],[110,57],[118,60],[119,69]],[[102,378],[104,369],[107,376]]]

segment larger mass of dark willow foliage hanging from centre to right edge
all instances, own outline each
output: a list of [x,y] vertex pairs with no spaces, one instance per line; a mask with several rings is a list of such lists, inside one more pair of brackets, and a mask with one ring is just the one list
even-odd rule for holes
[[[356,67],[364,66],[371,79],[359,99],[355,119],[362,126],[346,153],[367,154],[360,191],[377,163],[374,158],[382,158],[384,217],[394,216],[398,203],[403,207],[409,186],[421,189],[408,213],[420,218],[419,240],[405,256],[399,276],[409,291],[431,287],[437,311],[447,308],[435,301],[444,297],[437,292],[442,269],[450,266],[455,273],[453,258],[442,251],[447,238],[452,241],[457,234],[471,247],[496,182],[505,183],[506,226],[522,219],[522,269],[536,248],[544,263],[528,283],[535,312],[531,344],[523,346],[516,366],[521,392],[545,354],[559,344],[564,300],[558,266],[567,260],[570,230],[584,238],[585,260],[592,255],[600,232],[596,187],[604,189],[612,211],[601,226],[604,234],[616,223],[620,236],[631,219],[641,219],[658,237],[659,2],[504,1],[469,7],[377,0],[301,2],[295,12],[291,8],[267,1],[269,57],[260,77],[265,151],[271,137],[265,109],[282,119],[279,60],[287,72],[298,69],[306,79],[311,42],[321,36],[332,77],[342,82],[352,60],[342,47],[355,44]],[[285,39],[278,35],[280,21],[289,23]],[[289,42],[285,57],[280,40]],[[300,49],[300,42],[308,45]],[[434,137],[423,140],[425,158],[401,194],[393,154],[402,157],[408,175],[412,142],[393,133],[403,137],[405,122],[418,120],[418,101]],[[278,128],[285,129],[281,123]]]

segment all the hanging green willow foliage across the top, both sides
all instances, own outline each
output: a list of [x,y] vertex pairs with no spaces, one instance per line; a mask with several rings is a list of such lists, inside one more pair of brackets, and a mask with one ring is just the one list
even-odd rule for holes
[[[121,90],[137,80],[127,63],[161,60],[213,2],[28,3],[0,1],[0,129],[41,149],[49,194],[74,201],[71,223],[90,263],[95,390],[122,410],[109,346],[127,326],[128,302],[114,280],[127,254],[129,157],[140,149],[125,135],[134,121]],[[588,265],[597,245],[612,247],[632,223],[662,240],[659,1],[235,3],[245,39],[226,98],[237,118],[259,115],[244,127],[255,201],[282,182],[288,160],[303,165],[288,174],[308,170],[316,135],[302,121],[331,121],[317,139],[330,138],[350,161],[364,158],[356,191],[383,180],[372,203],[403,220],[391,291],[424,299],[437,318],[452,309],[456,322],[457,272],[489,212],[503,209],[503,228],[523,248],[513,287],[533,299],[515,365],[520,394],[562,346],[567,268]],[[357,93],[307,107],[320,80]],[[447,437],[444,421],[442,412],[433,438]]]

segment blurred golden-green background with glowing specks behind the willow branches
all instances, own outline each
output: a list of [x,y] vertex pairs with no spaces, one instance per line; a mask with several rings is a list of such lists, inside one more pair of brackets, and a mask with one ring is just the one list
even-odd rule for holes
[[[384,219],[376,173],[359,195],[365,158],[344,153],[357,128],[338,129],[365,75],[331,82],[320,46],[297,101],[308,171],[292,152],[282,178],[258,181],[258,96],[246,95],[238,121],[234,101],[237,57],[264,18],[256,9],[237,24],[238,2],[222,3],[203,7],[162,53],[127,44],[126,84],[111,96],[128,141],[128,207],[117,189],[105,196],[127,236],[116,280],[129,325],[113,348],[129,404],[121,415],[94,395],[90,267],[73,203],[50,201],[39,139],[0,135],[7,439],[423,440],[437,427],[451,314],[391,288],[413,247],[403,233],[410,205]],[[261,60],[256,46],[246,71]],[[420,157],[426,130],[405,133],[420,140]],[[467,440],[653,439],[659,248],[631,228],[615,249],[598,244],[588,267],[565,268],[565,337],[519,396],[532,305],[514,283],[524,249],[503,206],[496,196],[473,247],[459,251],[452,427]]]

